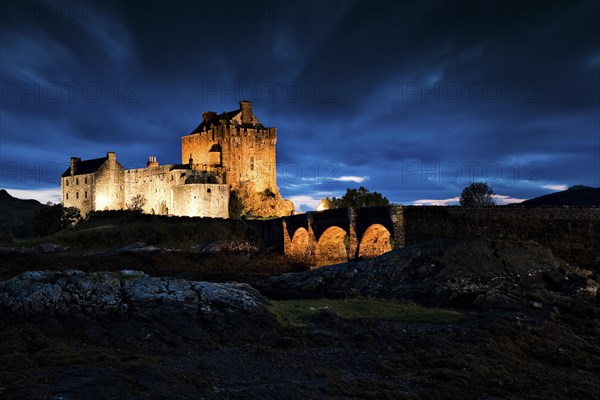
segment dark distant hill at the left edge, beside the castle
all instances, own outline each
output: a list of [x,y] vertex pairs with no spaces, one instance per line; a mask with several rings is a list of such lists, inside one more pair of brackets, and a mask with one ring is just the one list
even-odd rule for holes
[[21,200],[0,189],[0,233],[11,231],[16,237],[31,235],[33,214],[44,207],[37,200]]

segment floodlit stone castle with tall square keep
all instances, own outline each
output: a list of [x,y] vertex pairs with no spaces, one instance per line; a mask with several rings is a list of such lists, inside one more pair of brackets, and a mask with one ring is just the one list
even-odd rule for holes
[[[83,216],[141,208],[150,214],[228,218],[230,191],[242,187],[283,204],[276,143],[277,129],[265,128],[252,103],[241,101],[238,110],[202,113],[198,127],[181,138],[181,164],[159,165],[151,156],[146,168],[126,170],[114,152],[92,160],[72,157],[61,178],[62,204]],[[271,212],[290,214],[289,204]]]

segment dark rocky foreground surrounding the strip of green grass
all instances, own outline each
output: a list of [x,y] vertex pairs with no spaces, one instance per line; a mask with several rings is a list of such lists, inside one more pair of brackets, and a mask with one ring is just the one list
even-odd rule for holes
[[[254,288],[39,269],[0,282],[1,398],[600,397],[598,276],[535,243],[436,241]],[[294,325],[269,309],[269,299],[361,296],[464,318],[325,309]]]

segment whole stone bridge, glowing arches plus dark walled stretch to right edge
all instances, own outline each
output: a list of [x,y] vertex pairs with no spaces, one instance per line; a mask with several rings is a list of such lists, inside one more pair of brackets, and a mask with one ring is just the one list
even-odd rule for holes
[[248,221],[263,242],[319,267],[435,239],[534,240],[600,273],[600,207],[386,206]]

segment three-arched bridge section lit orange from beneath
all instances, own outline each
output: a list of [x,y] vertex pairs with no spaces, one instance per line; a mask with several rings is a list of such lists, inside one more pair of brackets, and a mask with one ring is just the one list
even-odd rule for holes
[[403,220],[402,206],[386,206],[307,212],[259,223],[265,243],[319,267],[404,247]]

